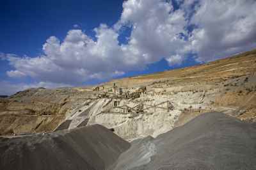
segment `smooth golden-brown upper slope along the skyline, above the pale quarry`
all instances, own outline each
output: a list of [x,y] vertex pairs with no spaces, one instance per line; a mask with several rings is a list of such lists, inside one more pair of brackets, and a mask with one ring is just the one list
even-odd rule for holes
[[134,86],[160,80],[168,80],[173,84],[188,81],[221,81],[230,77],[248,75],[256,71],[256,49],[242,54],[237,54],[230,58],[212,61],[203,65],[190,66],[166,72],[152,73],[138,77],[129,77],[111,81],[107,84],[111,86],[113,82],[123,86]]

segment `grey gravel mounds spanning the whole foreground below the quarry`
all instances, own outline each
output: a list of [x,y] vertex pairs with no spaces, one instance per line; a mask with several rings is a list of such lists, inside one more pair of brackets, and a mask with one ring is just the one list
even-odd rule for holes
[[0,138],[0,169],[255,169],[256,125],[220,112],[128,143],[100,125]]

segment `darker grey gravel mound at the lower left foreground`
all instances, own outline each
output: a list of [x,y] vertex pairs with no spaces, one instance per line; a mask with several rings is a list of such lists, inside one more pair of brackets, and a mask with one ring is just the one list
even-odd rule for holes
[[0,138],[0,169],[108,169],[130,144],[100,125]]

